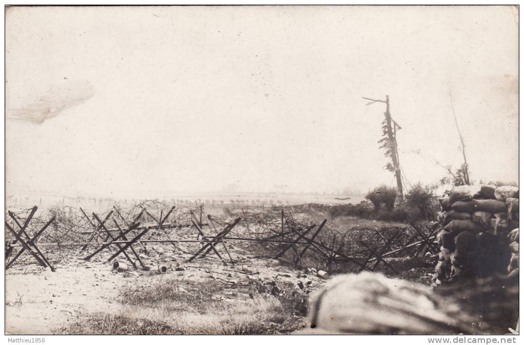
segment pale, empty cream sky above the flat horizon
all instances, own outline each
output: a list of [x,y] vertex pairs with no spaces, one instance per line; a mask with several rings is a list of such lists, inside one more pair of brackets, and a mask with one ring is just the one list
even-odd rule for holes
[[7,193],[366,192],[518,180],[511,6],[12,7]]

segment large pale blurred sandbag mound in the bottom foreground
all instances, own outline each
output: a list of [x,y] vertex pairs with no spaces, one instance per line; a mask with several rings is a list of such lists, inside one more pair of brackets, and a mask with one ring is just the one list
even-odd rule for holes
[[328,333],[481,333],[475,316],[454,300],[436,297],[429,286],[379,273],[334,277],[311,298],[310,323]]

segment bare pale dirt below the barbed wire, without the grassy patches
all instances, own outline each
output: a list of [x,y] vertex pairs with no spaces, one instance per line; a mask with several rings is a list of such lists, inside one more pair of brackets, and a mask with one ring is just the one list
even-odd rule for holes
[[[56,272],[36,264],[14,265],[5,277],[6,331],[13,334],[53,334],[74,322],[81,322],[85,315],[116,315],[123,310],[131,316],[148,318],[147,308],[137,310],[121,303],[122,291],[129,287],[139,291],[162,280],[177,279],[181,286],[219,282],[227,289],[211,298],[221,304],[249,300],[250,296],[245,292],[235,293],[235,286],[247,286],[253,281],[274,285],[298,284],[307,286],[311,291],[325,282],[314,275],[286,268],[277,260],[258,259],[248,254],[234,256],[235,264],[224,265],[214,256],[185,264],[183,262],[188,254],[171,257],[163,249],[159,252],[141,254],[144,263],[151,267],[150,271],[117,272],[112,262],[107,262],[110,253],[98,255],[92,261],[84,261],[81,259],[83,255],[78,253],[67,262],[62,261]],[[117,259],[123,262],[122,258]],[[170,266],[167,273],[158,272],[158,262]],[[183,270],[175,271],[177,265]],[[305,320],[304,316],[303,322]]]

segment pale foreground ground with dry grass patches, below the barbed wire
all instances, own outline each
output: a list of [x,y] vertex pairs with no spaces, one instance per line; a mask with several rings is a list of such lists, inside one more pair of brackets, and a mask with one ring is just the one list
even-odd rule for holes
[[[309,224],[312,218],[308,212],[295,213],[293,219],[304,218],[302,222]],[[324,219],[323,214],[314,215]],[[343,221],[349,225],[357,222]],[[357,225],[364,226],[362,221]],[[375,222],[372,225],[378,226]],[[239,236],[246,231],[242,226],[237,228]],[[307,318],[308,300],[326,280],[269,259],[280,250],[235,241],[217,246],[227,263],[213,251],[188,263],[203,242],[196,240],[194,231],[178,230],[176,235],[181,241],[173,244],[144,241],[133,246],[148,270],[117,272],[113,269],[114,260],[108,261],[116,248],[104,249],[85,261],[83,258],[101,245],[96,241],[84,252],[67,245],[43,247],[56,272],[38,266],[24,254],[5,276],[6,331],[13,334],[314,332]],[[152,236],[166,238],[171,234]],[[132,255],[129,249],[127,252]],[[291,257],[283,255],[280,260]],[[323,267],[322,261],[316,259],[314,255],[304,255],[302,263],[308,268]],[[381,265],[377,269],[429,285],[434,263],[428,264],[432,261],[429,257],[416,259],[388,258],[398,261],[395,266],[399,272],[388,272]],[[115,260],[131,267],[122,254]],[[168,266],[166,273],[158,271],[159,264]],[[340,273],[353,271],[351,265],[333,269]]]

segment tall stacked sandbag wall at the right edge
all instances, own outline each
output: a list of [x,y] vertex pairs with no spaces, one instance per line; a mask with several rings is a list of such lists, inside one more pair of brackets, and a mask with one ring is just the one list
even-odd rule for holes
[[435,285],[459,276],[518,275],[518,187],[459,186],[439,201]]

